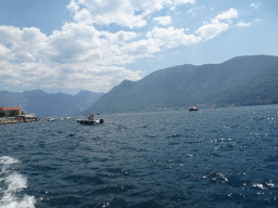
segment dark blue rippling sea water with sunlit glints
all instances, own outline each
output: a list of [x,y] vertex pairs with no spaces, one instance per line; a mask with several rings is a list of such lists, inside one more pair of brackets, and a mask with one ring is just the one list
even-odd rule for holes
[[278,207],[278,105],[0,126],[1,208]]

